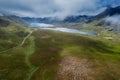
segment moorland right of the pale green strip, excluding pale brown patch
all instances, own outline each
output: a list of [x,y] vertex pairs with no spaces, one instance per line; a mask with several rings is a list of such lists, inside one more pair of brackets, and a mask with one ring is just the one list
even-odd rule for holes
[[91,62],[94,80],[120,79],[120,42],[42,30],[34,36],[37,49],[31,62],[39,69],[31,80],[58,80],[59,64],[66,56]]

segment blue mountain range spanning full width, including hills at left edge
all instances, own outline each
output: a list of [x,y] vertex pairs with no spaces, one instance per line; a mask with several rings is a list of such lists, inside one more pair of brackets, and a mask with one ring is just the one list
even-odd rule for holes
[[99,21],[98,26],[108,25],[105,22],[106,17],[111,17],[114,15],[120,14],[120,6],[117,7],[107,7],[103,12],[99,13],[95,16],[88,15],[77,15],[77,16],[67,16],[63,20],[59,20],[58,18],[53,17],[44,17],[44,18],[34,18],[34,17],[19,17],[15,15],[4,15],[1,13],[0,15],[0,26],[7,26],[11,23],[20,24],[23,26],[28,25],[29,23],[91,23],[95,20]]

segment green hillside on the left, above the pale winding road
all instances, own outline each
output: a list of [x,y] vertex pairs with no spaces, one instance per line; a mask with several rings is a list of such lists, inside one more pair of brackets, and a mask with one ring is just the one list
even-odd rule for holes
[[18,25],[0,27],[0,51],[17,46],[28,33],[27,28]]

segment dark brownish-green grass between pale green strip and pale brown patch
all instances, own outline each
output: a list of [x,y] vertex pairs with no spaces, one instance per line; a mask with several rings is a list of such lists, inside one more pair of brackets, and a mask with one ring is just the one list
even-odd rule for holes
[[41,39],[47,36],[43,34],[39,35],[39,31],[34,33],[36,51],[31,55],[31,62],[39,69],[33,74],[31,80],[54,80],[57,73],[61,48],[50,36]]

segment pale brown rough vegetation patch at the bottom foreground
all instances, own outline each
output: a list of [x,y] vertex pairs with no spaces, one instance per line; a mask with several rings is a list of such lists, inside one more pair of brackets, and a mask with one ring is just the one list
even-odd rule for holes
[[60,63],[58,72],[60,80],[93,80],[91,63],[86,59],[65,57]]

